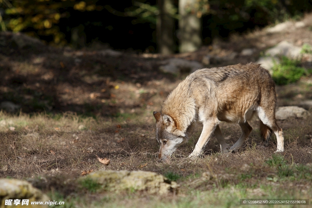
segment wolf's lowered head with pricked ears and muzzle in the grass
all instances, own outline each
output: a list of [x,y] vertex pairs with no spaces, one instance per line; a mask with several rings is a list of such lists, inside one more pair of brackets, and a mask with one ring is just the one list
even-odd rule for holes
[[188,137],[178,129],[177,122],[169,115],[153,112],[156,119],[156,139],[160,144],[158,159],[168,160],[179,145],[185,143]]

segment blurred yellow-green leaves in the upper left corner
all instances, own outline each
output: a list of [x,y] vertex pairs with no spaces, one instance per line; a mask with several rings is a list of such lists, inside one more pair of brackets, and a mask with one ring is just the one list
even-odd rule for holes
[[[18,32],[32,27],[37,30],[37,35],[53,36],[53,42],[65,45],[65,35],[56,26],[61,18],[69,17],[66,9],[72,7],[80,12],[101,10],[96,6],[98,0],[90,0],[88,4],[84,1],[54,1],[54,0],[20,0],[13,1],[12,5],[6,4],[5,14],[9,17],[5,25],[9,30]],[[1,1],[2,2],[2,1]],[[5,1],[8,2],[8,1]],[[1,5],[2,6],[2,5]],[[60,12],[65,11],[65,12]],[[3,27],[2,27],[3,30]],[[36,34],[30,34],[35,36]]]

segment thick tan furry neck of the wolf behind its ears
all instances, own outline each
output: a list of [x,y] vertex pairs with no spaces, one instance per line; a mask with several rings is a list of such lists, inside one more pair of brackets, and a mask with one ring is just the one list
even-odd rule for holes
[[161,113],[169,115],[174,120],[177,133],[185,134],[191,123],[196,120],[195,99],[191,98],[188,91],[179,89],[178,86],[164,101]]

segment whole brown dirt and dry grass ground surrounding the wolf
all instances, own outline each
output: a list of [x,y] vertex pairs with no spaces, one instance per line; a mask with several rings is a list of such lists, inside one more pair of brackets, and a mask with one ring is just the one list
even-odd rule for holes
[[[207,67],[245,64],[282,40],[297,46],[312,45],[311,19],[312,15],[307,15],[303,19],[306,26],[297,30],[233,35],[228,42],[216,40],[194,53],[170,57],[201,62],[207,54],[224,57],[236,52],[234,59],[215,61]],[[7,33],[0,36],[11,41]],[[244,48],[255,48],[256,52],[241,56]],[[32,48],[9,52],[2,49],[0,101],[12,101],[21,109],[0,113],[0,177],[27,179],[52,198],[67,200],[67,207],[90,203],[100,207],[102,202],[108,207],[145,207],[152,202],[157,204],[155,207],[207,207],[206,203],[231,207],[239,205],[240,197],[312,198],[311,117],[278,121],[285,136],[285,152],[278,154],[283,158],[278,165],[270,165],[277,157],[273,154],[276,139],[272,137],[269,147],[262,145],[256,118],[251,121],[253,131],[245,147],[238,153],[219,154],[213,137],[197,162],[178,164],[192,152],[201,132],[199,125],[171,162],[159,162],[155,157],[159,147],[152,112],[160,110],[166,96],[188,73],[160,72],[160,61],[168,57],[158,54],[113,52],[105,48],[72,51],[47,46],[39,52]],[[303,62],[305,66],[311,64]],[[311,100],[311,83],[310,75],[295,84],[277,86],[278,106]],[[239,126],[223,122],[220,126],[227,142],[235,143],[241,133]],[[110,158],[110,165],[101,164],[97,156]],[[300,171],[300,165],[304,171]],[[284,166],[291,174],[281,173]],[[84,172],[103,168],[154,171],[169,179],[171,174],[181,184],[180,192],[167,196],[167,201],[145,193],[92,193],[74,181]],[[204,172],[220,177],[203,181]]]

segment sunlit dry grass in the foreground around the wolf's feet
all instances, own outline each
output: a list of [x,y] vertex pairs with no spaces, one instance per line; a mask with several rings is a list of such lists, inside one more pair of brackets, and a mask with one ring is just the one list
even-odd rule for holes
[[[184,159],[201,132],[198,126],[190,142],[164,163],[155,157],[158,143],[155,124],[149,119],[94,119],[73,113],[17,116],[1,112],[0,116],[5,121],[0,127],[1,177],[28,178],[53,199],[66,200],[68,207],[99,207],[102,202],[107,207],[236,207],[240,198],[312,197],[311,118],[280,122],[286,145],[285,152],[278,155],[284,158],[284,169],[293,172],[287,175],[278,165],[268,164],[275,157],[275,138],[268,148],[262,147],[256,119],[251,122],[254,130],[250,138],[238,153],[218,153],[212,138],[206,155],[197,161]],[[240,135],[238,125],[222,123],[221,129],[229,142]],[[109,157],[110,165],[105,167],[96,156]],[[75,181],[81,171],[103,168],[154,171],[176,180],[181,187],[177,195],[163,198],[144,192],[93,193]],[[303,168],[305,175],[298,175],[296,168]]]

